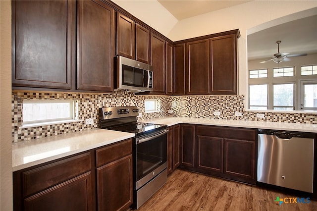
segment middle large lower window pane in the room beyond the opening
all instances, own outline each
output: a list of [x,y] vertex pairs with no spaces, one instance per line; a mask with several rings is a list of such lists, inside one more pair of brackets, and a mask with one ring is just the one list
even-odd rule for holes
[[273,85],[273,109],[294,110],[294,83]]

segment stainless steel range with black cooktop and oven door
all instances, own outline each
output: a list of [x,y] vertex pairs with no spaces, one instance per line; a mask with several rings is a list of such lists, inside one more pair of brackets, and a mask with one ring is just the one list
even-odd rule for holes
[[99,108],[100,127],[135,134],[133,208],[138,209],[167,181],[167,125],[140,123],[136,106]]

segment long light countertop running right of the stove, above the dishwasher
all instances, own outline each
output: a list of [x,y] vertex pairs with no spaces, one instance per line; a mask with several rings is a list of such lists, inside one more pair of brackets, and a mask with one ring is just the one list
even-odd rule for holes
[[188,124],[244,127],[244,128],[257,128],[257,129],[271,129],[271,130],[289,130],[289,131],[317,133],[317,124],[302,124],[302,123],[226,120],[226,119],[209,119],[209,118],[193,118],[193,117],[163,117],[163,118],[155,118],[155,119],[146,119],[146,120],[142,120],[141,122],[166,124],[167,126],[172,126],[179,123],[188,123]]

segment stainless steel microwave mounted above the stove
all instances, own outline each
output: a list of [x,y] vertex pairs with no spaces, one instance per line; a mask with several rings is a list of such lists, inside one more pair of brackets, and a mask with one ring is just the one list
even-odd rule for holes
[[153,67],[117,56],[117,89],[134,92],[153,91]]

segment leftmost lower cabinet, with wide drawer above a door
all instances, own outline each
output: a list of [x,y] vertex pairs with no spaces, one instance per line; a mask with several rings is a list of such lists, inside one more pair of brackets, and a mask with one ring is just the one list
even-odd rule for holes
[[93,211],[91,152],[13,172],[14,211]]

